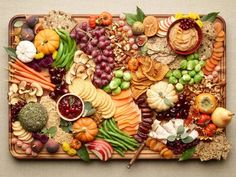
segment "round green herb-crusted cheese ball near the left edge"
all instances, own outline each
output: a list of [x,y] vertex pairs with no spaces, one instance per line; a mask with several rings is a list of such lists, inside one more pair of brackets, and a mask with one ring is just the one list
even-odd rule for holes
[[37,132],[46,125],[48,113],[40,103],[28,103],[21,109],[18,118],[25,130]]

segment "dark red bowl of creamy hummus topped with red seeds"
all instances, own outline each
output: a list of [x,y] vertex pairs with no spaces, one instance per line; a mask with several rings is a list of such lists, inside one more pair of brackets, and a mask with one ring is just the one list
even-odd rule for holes
[[176,20],[167,32],[167,42],[177,54],[189,55],[194,53],[202,42],[202,29],[191,18]]

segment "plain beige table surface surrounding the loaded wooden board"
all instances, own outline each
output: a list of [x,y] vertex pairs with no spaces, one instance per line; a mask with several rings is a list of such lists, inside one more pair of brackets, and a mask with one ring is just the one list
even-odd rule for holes
[[0,177],[236,177],[236,120],[228,127],[227,135],[234,148],[226,161],[201,163],[188,161],[140,160],[128,170],[128,161],[18,161],[11,157],[7,140],[7,45],[9,19],[20,13],[47,13],[60,9],[70,13],[99,13],[109,10],[114,14],[133,12],[135,5],[146,13],[175,13],[220,11],[227,23],[227,107],[236,112],[236,1],[234,0],[0,0]]

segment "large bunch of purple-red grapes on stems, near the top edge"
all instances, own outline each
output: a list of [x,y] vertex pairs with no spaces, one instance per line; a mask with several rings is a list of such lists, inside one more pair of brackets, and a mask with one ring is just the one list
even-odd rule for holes
[[91,30],[86,22],[81,27],[72,30],[71,37],[74,38],[80,49],[91,55],[96,63],[93,84],[101,88],[112,79],[112,70],[115,68],[114,54],[111,40],[106,36],[104,27],[96,27]]

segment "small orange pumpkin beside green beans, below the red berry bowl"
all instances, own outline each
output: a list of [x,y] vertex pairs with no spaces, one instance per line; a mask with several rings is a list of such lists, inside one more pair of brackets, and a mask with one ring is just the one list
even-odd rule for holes
[[94,140],[95,136],[98,133],[97,124],[91,118],[80,118],[74,122],[73,134],[75,139],[81,142],[90,142]]

